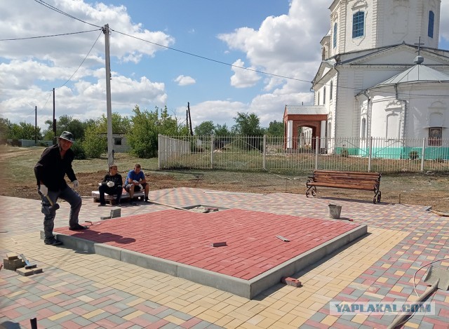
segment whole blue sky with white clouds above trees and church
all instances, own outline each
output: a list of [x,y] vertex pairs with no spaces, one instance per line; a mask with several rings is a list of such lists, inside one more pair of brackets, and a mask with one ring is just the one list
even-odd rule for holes
[[[182,123],[189,102],[194,126],[210,120],[230,127],[237,112],[257,114],[262,126],[282,121],[286,104],[312,102],[309,81],[319,67],[320,41],[330,27],[332,3],[45,1],[90,23],[86,24],[39,2],[0,1],[0,39],[95,30],[0,41],[0,115],[15,123],[34,124],[37,106],[41,128],[53,116],[52,88],[56,88],[57,118],[68,114],[83,121],[106,114],[105,37],[99,29],[105,24],[112,29],[113,112],[130,116],[135,105],[149,110],[167,106]],[[449,49],[449,1],[442,2],[439,48]]]

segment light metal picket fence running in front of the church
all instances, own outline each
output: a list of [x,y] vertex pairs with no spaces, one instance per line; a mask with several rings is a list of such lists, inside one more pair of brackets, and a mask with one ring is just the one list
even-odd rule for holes
[[267,135],[159,135],[159,168],[449,171],[449,139],[313,138],[299,145]]

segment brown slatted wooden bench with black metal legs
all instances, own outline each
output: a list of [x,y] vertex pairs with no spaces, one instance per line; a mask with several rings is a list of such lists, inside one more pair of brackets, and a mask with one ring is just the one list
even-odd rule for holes
[[[360,189],[373,191],[373,203],[380,202],[380,173],[363,173],[358,171],[314,170],[309,176],[306,196],[316,196],[316,187],[333,187],[335,189]],[[310,192],[309,192],[310,191]]]

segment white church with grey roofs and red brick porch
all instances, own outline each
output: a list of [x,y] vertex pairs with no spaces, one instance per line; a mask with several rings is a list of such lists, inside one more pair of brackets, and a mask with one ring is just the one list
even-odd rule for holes
[[323,149],[326,138],[341,137],[427,138],[441,147],[449,51],[438,49],[440,8],[441,0],[334,0],[314,105],[284,110],[286,148],[302,146],[299,131],[320,137]]

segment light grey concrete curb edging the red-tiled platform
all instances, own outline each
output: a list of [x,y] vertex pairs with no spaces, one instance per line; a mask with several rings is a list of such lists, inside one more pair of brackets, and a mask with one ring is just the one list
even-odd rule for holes
[[[351,231],[347,231],[316,248],[308,250],[306,253],[297,255],[297,257],[294,257],[287,262],[283,262],[273,269],[250,280],[234,278],[225,274],[200,269],[199,267],[193,267],[171,260],[164,260],[159,257],[137,253],[133,250],[108,246],[104,243],[95,243],[76,236],[67,236],[65,234],[55,235],[67,248],[79,250],[83,253],[95,253],[114,260],[120,260],[121,262],[144,267],[145,269],[152,269],[179,278],[185,278],[186,280],[224,290],[228,293],[251,300],[264,290],[278,284],[283,276],[293,276],[298,271],[318,262],[323,257],[330,255],[335,252],[335,250],[342,248],[351,241],[365,235],[367,232],[367,225],[358,225],[358,227],[351,229]],[[43,231],[41,231],[41,239],[43,239]]]

